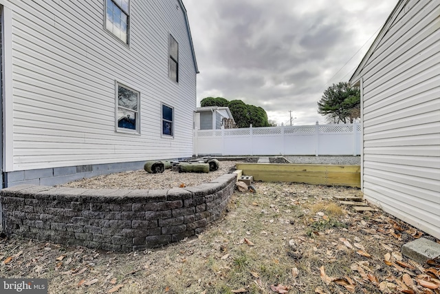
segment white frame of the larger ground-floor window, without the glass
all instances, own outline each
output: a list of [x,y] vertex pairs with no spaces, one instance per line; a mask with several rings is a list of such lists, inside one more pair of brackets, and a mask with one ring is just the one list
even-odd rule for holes
[[[123,87],[126,90],[129,90],[129,91],[137,94],[136,109],[119,105],[119,87]],[[120,111],[134,113],[134,116],[135,116],[135,128],[134,129],[119,126]],[[129,87],[129,86],[125,85],[124,83],[120,83],[118,81],[115,81],[115,132],[122,132],[122,133],[128,133],[128,134],[140,134],[140,92],[136,91],[132,87]]]

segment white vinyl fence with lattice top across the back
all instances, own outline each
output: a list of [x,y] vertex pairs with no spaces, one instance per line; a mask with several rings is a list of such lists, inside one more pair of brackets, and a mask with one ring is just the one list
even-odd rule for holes
[[360,155],[361,126],[301,125],[203,129],[194,132],[194,154],[242,155]]

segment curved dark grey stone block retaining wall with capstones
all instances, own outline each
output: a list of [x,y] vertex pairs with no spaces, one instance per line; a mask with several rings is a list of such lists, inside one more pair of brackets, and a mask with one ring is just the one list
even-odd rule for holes
[[236,174],[168,190],[19,185],[0,191],[3,231],[36,240],[138,251],[200,233],[225,211]]

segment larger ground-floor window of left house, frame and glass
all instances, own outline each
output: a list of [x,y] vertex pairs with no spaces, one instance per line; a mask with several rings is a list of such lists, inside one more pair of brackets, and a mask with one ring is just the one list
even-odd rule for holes
[[117,83],[116,130],[140,133],[139,92]]

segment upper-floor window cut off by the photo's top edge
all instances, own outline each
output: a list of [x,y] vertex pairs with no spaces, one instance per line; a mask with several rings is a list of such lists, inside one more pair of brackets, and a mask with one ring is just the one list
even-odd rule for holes
[[105,28],[122,42],[129,43],[129,0],[106,0]]

